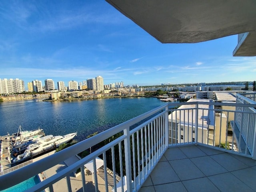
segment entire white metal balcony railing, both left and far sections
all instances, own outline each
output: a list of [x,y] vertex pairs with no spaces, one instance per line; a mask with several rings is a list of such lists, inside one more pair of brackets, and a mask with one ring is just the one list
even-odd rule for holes
[[[108,186],[110,183],[107,176],[108,169],[112,171],[112,178],[118,178],[111,181],[111,188],[113,187],[114,191],[117,191],[118,182],[121,186],[126,183],[122,191],[126,189],[138,191],[166,149],[180,145],[198,144],[256,158],[256,112],[250,111],[256,108],[256,104],[196,101],[178,103],[181,107],[172,109],[176,105],[177,103],[164,104],[56,154],[2,175],[0,190],[44,172],[95,145],[100,148],[27,191],[42,191],[48,188],[52,192],[54,184],[62,178],[66,178],[66,186],[63,186],[63,190],[72,191],[70,173],[76,172],[79,168],[82,178],[81,186],[86,191],[88,181],[85,177],[84,165],[92,160],[92,172],[96,172],[97,157],[103,160],[104,183],[99,183],[101,181],[98,180],[97,174],[92,174],[95,191],[111,191]],[[243,122],[248,122],[240,123],[240,130],[246,130],[244,136],[239,133],[237,136],[235,133],[234,127],[239,123],[236,122],[238,120],[236,114],[242,114],[240,116],[244,117]],[[250,124],[254,124],[254,127]],[[233,132],[228,131],[229,126],[233,127]],[[102,144],[101,142],[106,139],[111,142]],[[104,189],[100,188],[102,186]]]

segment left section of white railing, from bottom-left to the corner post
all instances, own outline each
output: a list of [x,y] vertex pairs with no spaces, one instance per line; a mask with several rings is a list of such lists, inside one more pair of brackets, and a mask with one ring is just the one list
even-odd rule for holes
[[[136,125],[134,126],[134,124]],[[112,137],[115,134],[118,135],[113,139]],[[49,178],[46,178],[27,191],[42,191],[48,188],[49,191],[53,192],[54,183],[62,178],[66,178],[66,186],[62,186],[62,190],[72,191],[70,174],[76,172],[79,168],[81,170],[82,188],[86,191],[87,183],[84,165],[92,160],[92,172],[96,173],[94,170],[97,170],[97,157],[103,160],[104,183],[99,184],[97,174],[92,174],[95,191],[99,191],[99,186],[104,186],[104,191],[111,191],[108,188],[107,168],[112,170],[113,178],[116,178],[116,173],[118,172],[121,178],[120,182],[122,184],[126,183],[122,191],[126,191],[126,188],[128,191],[138,191],[168,148],[168,104],[110,128],[42,160],[0,176],[0,190],[27,180],[84,150],[90,149],[90,147],[99,145],[100,142],[109,138],[113,140],[107,144],[103,143],[98,150],[71,164],[57,174],[49,176]],[[124,178],[126,179],[124,180]],[[117,190],[117,183],[118,180],[114,179],[111,184],[114,191]]]

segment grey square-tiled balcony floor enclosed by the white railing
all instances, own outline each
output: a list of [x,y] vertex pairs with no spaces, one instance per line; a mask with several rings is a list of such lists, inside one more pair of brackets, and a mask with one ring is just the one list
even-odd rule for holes
[[169,148],[140,192],[256,192],[256,160],[203,146]]

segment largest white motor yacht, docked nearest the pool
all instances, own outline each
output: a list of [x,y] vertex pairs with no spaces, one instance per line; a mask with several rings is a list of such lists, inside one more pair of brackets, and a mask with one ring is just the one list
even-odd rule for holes
[[77,132],[70,133],[64,136],[44,136],[35,140],[35,143],[28,145],[27,149],[24,151],[23,154],[18,155],[14,160],[13,163],[19,163],[28,158],[33,156],[42,154],[49,150],[55,149],[61,144],[69,142],[76,136]]

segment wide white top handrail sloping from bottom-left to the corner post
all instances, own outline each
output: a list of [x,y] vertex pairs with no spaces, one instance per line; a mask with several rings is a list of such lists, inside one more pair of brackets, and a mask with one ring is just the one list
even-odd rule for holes
[[[26,179],[29,179],[32,176],[38,174],[39,172],[43,172],[44,170],[47,170],[47,169],[51,168],[52,166],[55,166],[56,164],[63,162],[64,160],[68,159],[70,156],[75,156],[75,155],[79,154],[80,152],[90,148],[91,146],[94,146],[94,145],[102,142],[103,140],[113,136],[116,133],[123,131],[125,128],[130,127],[130,126],[136,124],[137,122],[144,120],[145,118],[155,114],[156,112],[158,112],[160,110],[165,110],[166,106],[168,106],[168,104],[159,106],[153,110],[150,110],[149,112],[146,112],[140,116],[132,118],[131,120],[121,123],[117,126],[114,126],[104,132],[97,134],[96,136],[93,136],[91,138],[83,140],[83,141],[81,141],[73,146],[70,146],[64,150],[61,150],[56,154],[47,156],[44,159],[38,160],[38,161],[36,161],[32,164],[29,164],[27,166],[24,166],[18,170],[14,170],[8,174],[4,174],[4,175],[0,176],[0,190],[2,190],[4,188],[11,187],[11,186],[8,186],[8,183],[9,183],[8,181],[13,180],[14,177],[16,179],[12,183],[13,185],[18,184]],[[84,148],[84,146],[88,146],[88,147]],[[68,152],[66,152],[66,151],[68,151]],[[24,174],[24,172],[26,172],[27,174]]]

